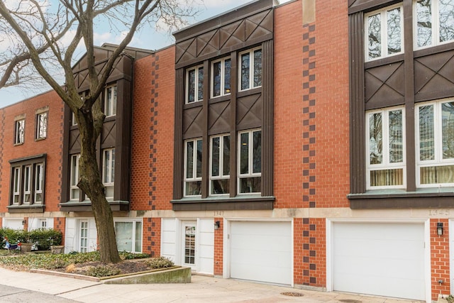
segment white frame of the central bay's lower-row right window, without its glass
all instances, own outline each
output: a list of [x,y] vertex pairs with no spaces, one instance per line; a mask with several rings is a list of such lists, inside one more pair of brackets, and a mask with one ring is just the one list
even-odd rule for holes
[[[260,172],[253,172],[253,160],[254,160],[254,133],[260,132]],[[248,133],[248,173],[241,173],[241,135]],[[262,128],[254,128],[248,131],[238,131],[238,176],[237,176],[237,194],[259,194],[260,192],[241,192],[241,179],[246,178],[262,178]]]

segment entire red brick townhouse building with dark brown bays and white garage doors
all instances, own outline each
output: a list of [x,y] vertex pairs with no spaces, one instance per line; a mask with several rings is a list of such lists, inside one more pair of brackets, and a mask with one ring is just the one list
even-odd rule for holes
[[[121,57],[97,146],[118,248],[315,290],[454,292],[452,1],[273,2]],[[96,249],[70,111],[48,92],[0,123],[2,226]]]

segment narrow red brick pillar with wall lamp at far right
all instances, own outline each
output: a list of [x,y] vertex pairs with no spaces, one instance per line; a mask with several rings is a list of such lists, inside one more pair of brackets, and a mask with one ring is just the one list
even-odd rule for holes
[[[443,223],[443,236],[437,234],[438,222]],[[433,300],[438,299],[438,294],[450,294],[448,227],[448,219],[431,219],[431,288]],[[443,280],[443,284],[438,283],[439,280]]]

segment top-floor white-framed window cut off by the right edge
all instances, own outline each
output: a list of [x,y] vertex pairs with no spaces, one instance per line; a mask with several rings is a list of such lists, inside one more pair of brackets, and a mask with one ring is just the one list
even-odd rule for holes
[[414,2],[415,48],[454,40],[454,0]]

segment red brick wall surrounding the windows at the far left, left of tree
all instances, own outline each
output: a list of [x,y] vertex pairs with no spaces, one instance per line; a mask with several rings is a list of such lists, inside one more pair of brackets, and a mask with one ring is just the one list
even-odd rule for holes
[[[49,106],[47,138],[35,141],[35,111]],[[14,117],[26,114],[25,140],[22,145],[14,146]],[[45,209],[58,211],[62,179],[62,123],[63,103],[55,92],[40,94],[31,99],[4,108],[2,123],[0,212],[7,212],[11,165],[9,160],[42,153],[47,154],[45,167]]]

